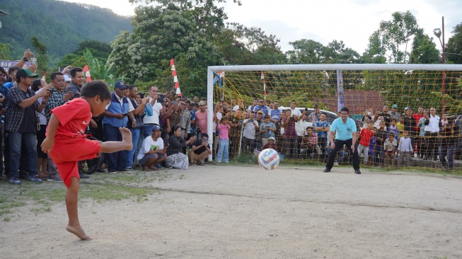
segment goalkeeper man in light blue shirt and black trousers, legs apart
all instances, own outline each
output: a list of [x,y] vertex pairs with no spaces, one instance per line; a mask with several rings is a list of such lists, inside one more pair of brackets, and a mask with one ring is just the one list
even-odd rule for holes
[[[329,153],[328,163],[325,165],[324,173],[329,173],[330,169],[334,166],[335,156],[337,151],[342,149],[345,144],[350,153],[353,156],[353,168],[354,173],[360,174],[359,171],[359,156],[358,151],[355,149],[355,144],[357,140],[357,129],[356,123],[350,117],[348,117],[350,110],[344,107],[340,110],[340,117],[335,119],[330,125],[329,140],[330,148],[333,149]],[[335,141],[333,139],[335,134]]]

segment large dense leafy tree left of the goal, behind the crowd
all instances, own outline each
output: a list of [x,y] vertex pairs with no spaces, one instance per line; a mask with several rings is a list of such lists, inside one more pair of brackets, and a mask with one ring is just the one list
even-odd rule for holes
[[191,11],[174,4],[143,6],[135,10],[134,33],[122,32],[112,42],[110,63],[129,82],[156,79],[173,86],[170,59],[175,59],[182,91],[204,96],[207,66],[222,64],[218,47],[197,30]]

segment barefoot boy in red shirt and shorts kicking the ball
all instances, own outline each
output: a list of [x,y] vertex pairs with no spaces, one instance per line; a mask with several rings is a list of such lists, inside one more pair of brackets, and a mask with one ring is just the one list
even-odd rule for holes
[[69,223],[66,230],[81,240],[90,240],[79,223],[77,201],[80,178],[77,161],[94,159],[100,152],[112,153],[132,149],[132,134],[127,128],[120,128],[122,142],[99,142],[86,139],[85,129],[91,116],[98,116],[110,103],[111,94],[103,81],[92,81],[81,88],[81,98],[51,110],[52,116],[47,128],[47,137],[42,142],[42,151],[53,159],[67,187],[66,207]]

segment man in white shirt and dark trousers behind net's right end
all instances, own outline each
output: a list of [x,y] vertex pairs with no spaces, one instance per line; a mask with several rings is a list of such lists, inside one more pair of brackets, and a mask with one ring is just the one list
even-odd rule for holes
[[430,159],[430,156],[432,156],[433,161],[437,162],[439,149],[438,132],[439,129],[443,127],[443,125],[441,124],[441,120],[437,115],[437,109],[435,109],[434,107],[430,108],[430,115],[425,118],[424,125],[425,137],[427,137],[427,154],[429,155],[427,159]]

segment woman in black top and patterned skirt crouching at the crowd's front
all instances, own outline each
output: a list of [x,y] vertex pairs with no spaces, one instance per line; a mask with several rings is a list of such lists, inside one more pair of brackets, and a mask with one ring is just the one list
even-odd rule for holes
[[168,168],[187,169],[188,158],[182,153],[185,146],[195,142],[196,136],[191,137],[188,141],[185,141],[181,136],[181,127],[175,126],[173,128],[173,134],[168,138],[167,158],[166,166]]

